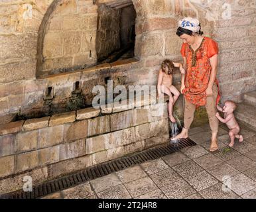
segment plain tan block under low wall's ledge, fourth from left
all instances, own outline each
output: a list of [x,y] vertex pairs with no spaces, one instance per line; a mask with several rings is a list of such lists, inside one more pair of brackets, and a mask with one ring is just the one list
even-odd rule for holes
[[88,131],[88,120],[77,121],[71,124],[66,124],[64,129],[64,140],[72,141],[80,138],[86,138]]

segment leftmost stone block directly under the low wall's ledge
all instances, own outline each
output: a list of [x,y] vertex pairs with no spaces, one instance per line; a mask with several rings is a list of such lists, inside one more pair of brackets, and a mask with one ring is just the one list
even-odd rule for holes
[[14,134],[0,136],[0,157],[14,154]]

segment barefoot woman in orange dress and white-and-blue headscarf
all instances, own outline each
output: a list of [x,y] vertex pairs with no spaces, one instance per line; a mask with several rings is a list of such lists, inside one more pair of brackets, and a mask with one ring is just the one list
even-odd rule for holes
[[181,93],[185,97],[184,128],[174,139],[187,138],[188,130],[194,120],[196,107],[206,106],[212,129],[210,151],[218,150],[218,126],[216,118],[220,101],[217,76],[218,44],[211,38],[202,36],[201,26],[197,19],[190,17],[179,21],[176,32],[183,40],[181,54],[184,59],[186,74],[182,75]]

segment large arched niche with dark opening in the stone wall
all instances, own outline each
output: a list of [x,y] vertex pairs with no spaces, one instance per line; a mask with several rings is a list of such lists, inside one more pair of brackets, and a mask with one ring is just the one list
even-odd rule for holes
[[38,33],[36,76],[132,58],[135,19],[131,0],[54,0]]

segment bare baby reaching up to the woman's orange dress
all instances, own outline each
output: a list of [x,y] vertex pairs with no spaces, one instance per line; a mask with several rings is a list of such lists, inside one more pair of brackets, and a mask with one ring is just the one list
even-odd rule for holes
[[239,142],[243,142],[243,136],[238,134],[240,131],[239,125],[235,120],[235,115],[233,115],[233,111],[236,109],[236,105],[233,101],[225,101],[224,107],[217,106],[219,111],[224,112],[224,119],[220,117],[220,113],[216,114],[216,117],[222,122],[227,125],[229,128],[229,137],[230,137],[230,147],[233,147],[235,144],[235,138],[239,138]]

